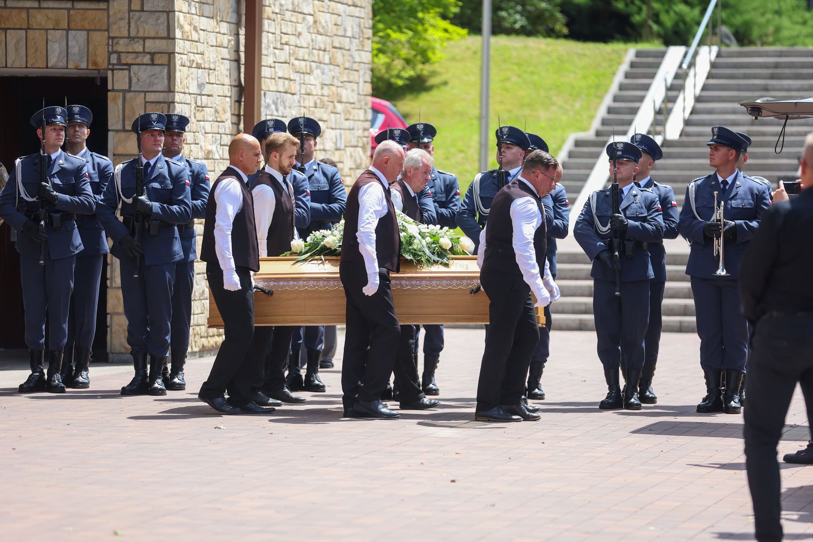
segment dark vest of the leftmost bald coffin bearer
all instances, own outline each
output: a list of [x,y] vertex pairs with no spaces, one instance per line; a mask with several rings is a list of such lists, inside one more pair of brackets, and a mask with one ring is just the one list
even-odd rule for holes
[[[231,170],[231,171],[230,171]],[[251,191],[238,171],[229,166],[220,174],[220,177],[211,185],[211,196],[206,206],[206,222],[203,223],[203,240],[201,259],[220,265],[215,251],[215,217],[217,216],[217,202],[215,190],[221,180],[235,179],[240,185],[243,196],[243,206],[232,223],[232,255],[234,265],[248,267],[251,271],[259,271],[259,250],[257,249],[257,230],[254,228],[254,200]]]

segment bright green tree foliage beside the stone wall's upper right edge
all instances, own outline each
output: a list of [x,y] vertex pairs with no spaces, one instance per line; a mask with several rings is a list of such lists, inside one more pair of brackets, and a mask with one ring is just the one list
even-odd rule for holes
[[372,88],[389,96],[425,76],[446,43],[466,36],[450,21],[459,0],[372,0]]

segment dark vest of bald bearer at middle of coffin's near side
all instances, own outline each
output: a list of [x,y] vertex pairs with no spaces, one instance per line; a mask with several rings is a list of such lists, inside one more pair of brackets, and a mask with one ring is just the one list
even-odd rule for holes
[[[341,261],[342,262],[364,262],[364,257],[359,250],[359,239],[356,234],[359,232],[359,191],[363,185],[368,183],[380,183],[378,176],[367,169],[356,182],[350,193],[347,194],[347,206],[345,208],[345,236],[341,241]],[[384,187],[381,187],[384,189]],[[395,218],[395,207],[393,200],[389,197],[389,190],[384,189],[384,196],[387,199],[389,212],[378,219],[376,224],[376,257],[378,266],[398,272],[401,268],[401,236],[398,234],[398,220]]]

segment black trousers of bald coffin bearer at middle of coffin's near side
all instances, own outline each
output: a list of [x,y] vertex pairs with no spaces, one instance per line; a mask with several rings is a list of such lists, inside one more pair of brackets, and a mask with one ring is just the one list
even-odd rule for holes
[[348,409],[356,401],[381,398],[395,365],[401,327],[389,289],[389,271],[378,270],[379,287],[372,296],[362,292],[367,285],[363,263],[341,262],[339,276],[347,298],[341,402]]

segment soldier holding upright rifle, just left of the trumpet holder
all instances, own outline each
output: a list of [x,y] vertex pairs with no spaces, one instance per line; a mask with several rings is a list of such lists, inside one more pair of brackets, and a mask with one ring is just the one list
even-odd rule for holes
[[[650,280],[654,278],[647,248],[650,242],[663,241],[663,213],[652,190],[633,183],[641,150],[617,141],[607,145],[606,154],[617,183],[590,194],[576,219],[573,236],[593,261],[593,315],[608,390],[598,408],[641,410],[638,384],[644,366]],[[615,189],[619,191],[618,212],[614,212]],[[619,379],[622,365],[627,383],[624,397]]]

